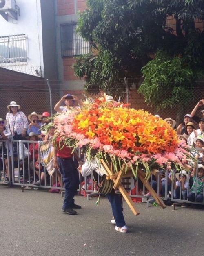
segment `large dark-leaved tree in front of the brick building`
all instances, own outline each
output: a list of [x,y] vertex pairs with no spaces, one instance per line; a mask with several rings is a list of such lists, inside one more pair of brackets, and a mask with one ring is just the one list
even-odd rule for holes
[[[204,19],[204,1],[87,0],[87,7],[80,14],[78,31],[92,51],[78,57],[74,65],[75,74],[85,79],[86,91],[121,96],[124,77],[134,81],[143,72],[145,79],[142,67],[154,61],[158,50],[167,58],[182,58],[181,67],[191,70],[191,79],[203,69],[204,33],[195,29],[195,20]],[[166,25],[172,15],[176,33]],[[184,79],[184,72],[180,75]],[[146,97],[143,86],[140,92]]]

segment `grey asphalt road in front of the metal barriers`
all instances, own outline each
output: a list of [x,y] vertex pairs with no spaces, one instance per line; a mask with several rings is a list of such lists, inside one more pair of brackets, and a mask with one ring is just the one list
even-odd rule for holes
[[115,231],[106,198],[96,207],[77,195],[78,215],[61,212],[63,199],[44,190],[0,185],[0,256],[203,256],[204,210],[124,202],[128,233]]

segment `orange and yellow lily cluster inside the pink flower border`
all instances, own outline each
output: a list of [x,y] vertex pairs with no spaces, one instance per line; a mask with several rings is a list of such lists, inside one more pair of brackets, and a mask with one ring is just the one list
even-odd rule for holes
[[99,106],[82,109],[75,116],[73,132],[89,140],[97,137],[102,145],[112,145],[114,149],[133,154],[175,151],[176,133],[162,119],[142,110]]

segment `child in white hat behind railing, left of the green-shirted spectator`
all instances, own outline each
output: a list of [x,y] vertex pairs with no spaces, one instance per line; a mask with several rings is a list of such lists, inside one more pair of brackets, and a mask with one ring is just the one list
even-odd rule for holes
[[[188,189],[188,174],[184,170],[181,170],[179,173],[175,175],[173,198],[180,199],[180,189],[181,189],[181,199],[186,200],[187,189]],[[185,207],[186,205],[183,205],[183,206]]]

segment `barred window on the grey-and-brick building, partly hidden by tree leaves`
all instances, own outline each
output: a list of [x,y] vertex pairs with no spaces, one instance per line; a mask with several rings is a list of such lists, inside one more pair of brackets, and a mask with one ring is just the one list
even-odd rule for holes
[[76,28],[76,23],[60,25],[62,57],[89,53],[89,42],[76,33]]

